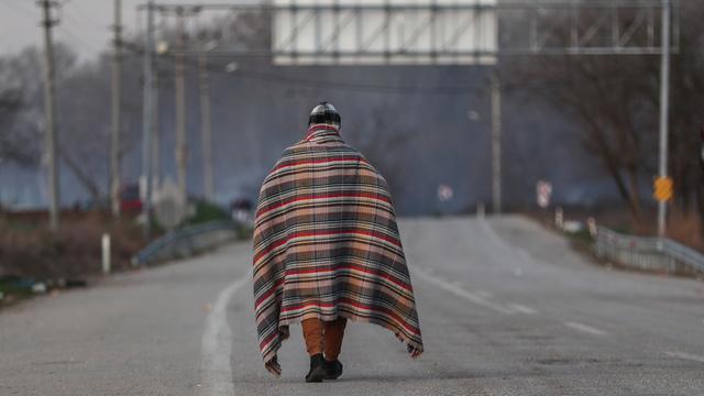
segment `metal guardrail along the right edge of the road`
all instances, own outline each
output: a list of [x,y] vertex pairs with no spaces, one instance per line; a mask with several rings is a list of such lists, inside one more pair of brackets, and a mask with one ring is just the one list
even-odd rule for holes
[[626,235],[598,227],[596,255],[649,271],[704,274],[704,254],[670,239]]

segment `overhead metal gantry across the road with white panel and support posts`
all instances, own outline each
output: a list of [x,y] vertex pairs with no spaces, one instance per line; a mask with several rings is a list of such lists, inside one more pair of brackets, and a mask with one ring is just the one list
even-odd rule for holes
[[[226,12],[233,19],[255,13],[268,21],[268,40],[260,41],[260,47],[223,41],[208,56],[263,56],[277,65],[491,66],[498,57],[512,55],[660,55],[659,176],[668,176],[670,54],[679,51],[678,0],[270,0],[261,4],[151,0],[138,9],[150,15],[195,18],[209,12]],[[153,28],[147,29],[147,43],[153,44],[148,38],[153,33]],[[186,43],[174,55],[198,56],[200,47],[200,43]],[[147,45],[145,54],[154,55],[153,45]],[[497,75],[492,85],[493,201],[501,212]],[[148,89],[145,86],[145,102]],[[659,202],[660,235],[666,213],[667,204]]]

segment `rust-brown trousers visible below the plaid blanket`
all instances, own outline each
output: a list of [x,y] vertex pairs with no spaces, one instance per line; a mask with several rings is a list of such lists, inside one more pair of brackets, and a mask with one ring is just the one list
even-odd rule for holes
[[318,318],[301,321],[308,354],[312,356],[324,352],[327,361],[338,359],[346,323],[348,320],[342,317],[333,321],[322,321]]

